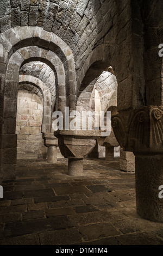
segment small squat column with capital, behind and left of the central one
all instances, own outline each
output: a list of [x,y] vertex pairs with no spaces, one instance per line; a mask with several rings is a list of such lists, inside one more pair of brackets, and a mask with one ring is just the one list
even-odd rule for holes
[[48,147],[47,150],[47,162],[57,163],[57,147],[58,139],[53,133],[43,133],[44,145]]

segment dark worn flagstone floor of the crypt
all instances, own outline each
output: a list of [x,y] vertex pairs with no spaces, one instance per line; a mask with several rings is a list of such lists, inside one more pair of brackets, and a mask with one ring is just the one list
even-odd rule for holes
[[1,185],[0,245],[163,245],[163,223],[136,214],[135,174],[116,159],[85,159],[79,177],[67,159],[18,160]]

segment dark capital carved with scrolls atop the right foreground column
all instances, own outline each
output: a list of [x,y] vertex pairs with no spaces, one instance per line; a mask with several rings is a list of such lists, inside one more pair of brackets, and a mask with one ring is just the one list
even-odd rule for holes
[[111,125],[125,151],[163,152],[163,106],[122,111],[111,118]]

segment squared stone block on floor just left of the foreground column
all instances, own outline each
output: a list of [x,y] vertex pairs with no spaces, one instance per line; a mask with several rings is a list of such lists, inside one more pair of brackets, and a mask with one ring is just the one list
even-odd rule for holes
[[120,169],[124,172],[135,172],[135,156],[133,152],[120,149]]

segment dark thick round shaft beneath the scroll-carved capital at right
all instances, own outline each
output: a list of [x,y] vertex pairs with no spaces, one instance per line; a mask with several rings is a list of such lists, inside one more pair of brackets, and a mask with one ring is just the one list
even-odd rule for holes
[[[151,221],[163,222],[163,154],[135,155],[137,214]],[[163,194],[163,193],[162,193]]]

